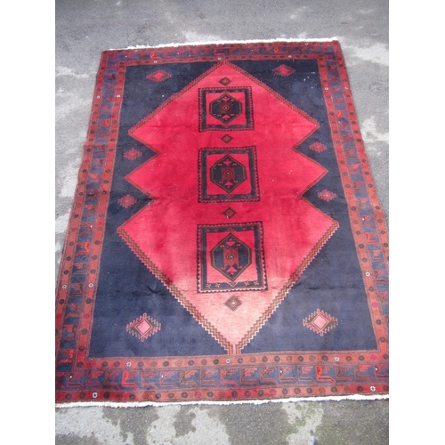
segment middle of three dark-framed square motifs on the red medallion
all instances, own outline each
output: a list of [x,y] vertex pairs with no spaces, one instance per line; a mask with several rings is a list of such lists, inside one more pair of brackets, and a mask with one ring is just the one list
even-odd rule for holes
[[255,147],[200,149],[198,202],[259,201]]

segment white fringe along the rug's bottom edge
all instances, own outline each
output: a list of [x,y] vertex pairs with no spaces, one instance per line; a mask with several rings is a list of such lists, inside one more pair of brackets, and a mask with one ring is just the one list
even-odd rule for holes
[[110,401],[73,401],[71,403],[56,404],[56,408],[74,407],[108,407],[108,408],[138,408],[138,407],[163,407],[168,405],[240,405],[249,403],[251,405],[263,405],[264,403],[286,403],[300,401],[377,401],[389,399],[389,394],[351,394],[322,397],[297,397],[289,399],[256,400],[256,401],[130,401],[130,402],[110,402]]

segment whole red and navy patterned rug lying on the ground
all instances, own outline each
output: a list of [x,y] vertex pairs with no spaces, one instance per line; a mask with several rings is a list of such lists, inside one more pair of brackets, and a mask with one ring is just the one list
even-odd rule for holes
[[105,51],[56,404],[387,397],[387,268],[336,40]]

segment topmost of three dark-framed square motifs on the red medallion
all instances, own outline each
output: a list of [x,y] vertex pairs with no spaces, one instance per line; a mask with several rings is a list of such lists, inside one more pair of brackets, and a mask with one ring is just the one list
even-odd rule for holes
[[252,88],[199,88],[199,132],[253,130]]

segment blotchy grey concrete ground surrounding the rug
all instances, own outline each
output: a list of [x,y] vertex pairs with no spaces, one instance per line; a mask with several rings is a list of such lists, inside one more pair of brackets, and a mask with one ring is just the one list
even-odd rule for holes
[[[56,274],[101,51],[132,45],[324,38],[342,45],[376,189],[388,198],[388,1],[57,0]],[[58,445],[389,442],[388,401],[56,409]]]

